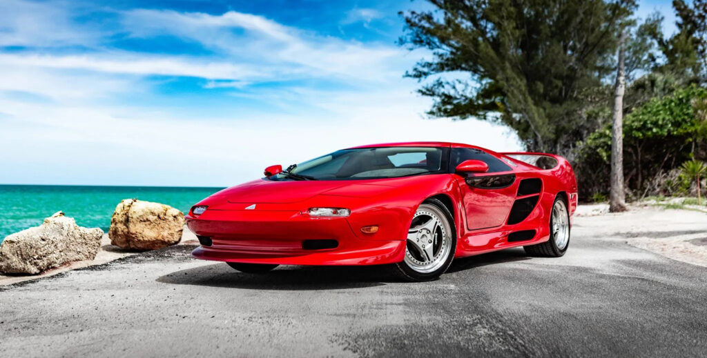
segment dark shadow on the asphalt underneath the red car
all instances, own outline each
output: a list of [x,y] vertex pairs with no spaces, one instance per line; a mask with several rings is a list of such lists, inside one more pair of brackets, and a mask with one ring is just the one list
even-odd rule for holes
[[[457,258],[447,273],[471,270],[484,265],[527,260],[522,249]],[[444,275],[442,276],[444,279]],[[282,265],[267,273],[240,273],[226,263],[187,268],[163,275],[158,282],[173,285],[240,288],[245,290],[344,290],[401,282],[387,268],[373,266],[291,266]]]

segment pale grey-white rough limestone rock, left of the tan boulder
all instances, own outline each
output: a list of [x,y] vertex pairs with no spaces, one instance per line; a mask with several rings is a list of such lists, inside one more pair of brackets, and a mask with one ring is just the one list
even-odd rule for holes
[[73,261],[93,260],[101,229],[79,227],[59,211],[42,225],[9,235],[0,244],[0,272],[36,275]]

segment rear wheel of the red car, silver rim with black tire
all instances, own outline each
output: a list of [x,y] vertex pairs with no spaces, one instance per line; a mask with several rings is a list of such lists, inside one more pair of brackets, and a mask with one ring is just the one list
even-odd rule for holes
[[550,215],[550,238],[542,244],[523,246],[530,256],[560,257],[570,245],[570,215],[564,198],[557,196]]

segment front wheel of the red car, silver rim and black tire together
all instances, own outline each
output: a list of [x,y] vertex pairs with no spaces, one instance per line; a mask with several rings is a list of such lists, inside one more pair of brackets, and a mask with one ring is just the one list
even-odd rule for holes
[[393,272],[408,281],[436,280],[452,263],[457,246],[452,214],[445,205],[428,199],[417,208],[407,234],[405,257]]

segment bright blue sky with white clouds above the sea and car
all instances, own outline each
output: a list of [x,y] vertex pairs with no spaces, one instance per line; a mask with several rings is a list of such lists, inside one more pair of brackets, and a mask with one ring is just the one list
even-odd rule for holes
[[[520,150],[429,119],[396,44],[423,1],[0,0],[0,184],[231,186],[354,145]],[[670,1],[638,15],[666,16]]]

